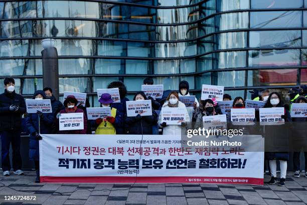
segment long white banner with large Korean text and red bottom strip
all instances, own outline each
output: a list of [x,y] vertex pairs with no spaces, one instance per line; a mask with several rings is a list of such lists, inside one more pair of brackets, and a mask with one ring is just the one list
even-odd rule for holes
[[[173,135],[42,137],[41,182],[263,185],[264,152],[229,147],[229,151],[205,154],[200,148],[182,147],[181,136]],[[248,142],[264,147],[261,136],[247,137]]]

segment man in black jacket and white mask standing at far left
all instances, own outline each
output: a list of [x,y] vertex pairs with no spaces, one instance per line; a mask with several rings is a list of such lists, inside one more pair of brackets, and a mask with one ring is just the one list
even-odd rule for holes
[[5,92],[0,94],[0,136],[2,145],[2,170],[4,176],[10,175],[10,144],[13,148],[13,169],[22,175],[22,158],[20,155],[21,118],[26,113],[25,99],[15,92],[15,80],[5,78]]

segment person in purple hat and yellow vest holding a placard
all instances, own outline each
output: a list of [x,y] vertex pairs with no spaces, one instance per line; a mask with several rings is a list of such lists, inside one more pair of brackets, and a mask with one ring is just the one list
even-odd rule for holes
[[100,107],[111,107],[111,116],[91,121],[91,125],[96,128],[95,134],[116,135],[116,127],[123,126],[120,112],[116,108],[112,108],[113,99],[109,93],[103,93],[98,101],[100,102]]

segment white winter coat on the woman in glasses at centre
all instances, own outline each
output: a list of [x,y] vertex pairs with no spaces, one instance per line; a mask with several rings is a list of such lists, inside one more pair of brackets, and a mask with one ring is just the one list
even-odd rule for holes
[[[162,108],[169,108],[168,106],[169,101],[167,100]],[[185,104],[181,101],[178,101],[178,108],[186,108]],[[162,124],[162,116],[161,113],[159,115],[158,118],[158,125],[162,128],[161,124]],[[190,117],[188,112],[186,111],[186,122],[190,122]],[[181,129],[183,127],[180,125],[167,125],[166,127],[163,128],[163,135],[181,135]]]

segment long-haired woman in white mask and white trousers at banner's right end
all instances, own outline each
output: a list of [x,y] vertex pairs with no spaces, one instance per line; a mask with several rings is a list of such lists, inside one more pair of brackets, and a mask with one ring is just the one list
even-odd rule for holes
[[[270,93],[266,104],[264,105],[264,108],[283,108],[283,102],[281,100],[280,94],[278,92],[272,92]],[[284,119],[285,122],[291,121],[290,114],[287,110],[284,110],[284,115],[281,116],[281,118]],[[268,126],[266,126],[268,127]],[[273,139],[274,145],[278,147],[280,143],[282,145],[285,145],[285,142],[282,142],[282,136],[283,138],[287,135],[287,130],[283,128],[282,125],[279,126],[272,126],[270,128],[265,128],[264,132],[265,137]],[[287,161],[289,159],[289,153],[288,152],[266,152],[265,153],[266,158],[269,160],[269,166],[271,171],[271,180],[268,182],[269,184],[275,184],[278,182],[277,175],[276,175],[276,160],[279,160],[280,165],[280,180],[278,182],[279,186],[284,186],[285,184],[285,177],[286,177],[286,171],[287,171]]]

